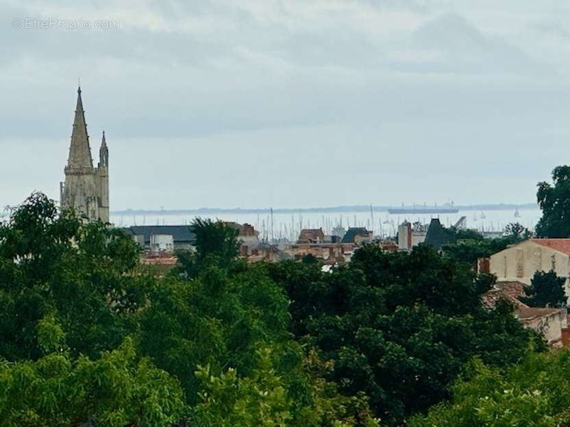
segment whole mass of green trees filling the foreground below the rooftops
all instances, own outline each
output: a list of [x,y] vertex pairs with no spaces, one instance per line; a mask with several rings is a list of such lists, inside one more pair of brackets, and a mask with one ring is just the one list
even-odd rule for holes
[[247,264],[235,231],[193,227],[197,252],[156,276],[121,230],[42,194],[0,224],[0,426],[567,421],[541,372],[567,378],[570,356],[508,303],[482,308],[494,278],[457,253],[364,246],[321,272]]

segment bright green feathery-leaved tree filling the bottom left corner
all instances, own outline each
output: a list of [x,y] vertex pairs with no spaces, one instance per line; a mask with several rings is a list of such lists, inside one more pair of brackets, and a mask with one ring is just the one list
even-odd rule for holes
[[177,380],[130,339],[100,359],[55,352],[37,361],[0,361],[0,424],[6,427],[172,426],[188,408]]

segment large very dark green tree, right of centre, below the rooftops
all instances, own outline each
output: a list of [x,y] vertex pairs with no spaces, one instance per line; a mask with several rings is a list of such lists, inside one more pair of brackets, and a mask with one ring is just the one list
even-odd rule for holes
[[492,277],[430,246],[409,255],[365,246],[330,274],[292,262],[270,270],[292,301],[295,334],[334,361],[330,378],[340,391],[366,393],[388,424],[447,398],[472,357],[508,365],[534,340],[509,305],[482,309]]

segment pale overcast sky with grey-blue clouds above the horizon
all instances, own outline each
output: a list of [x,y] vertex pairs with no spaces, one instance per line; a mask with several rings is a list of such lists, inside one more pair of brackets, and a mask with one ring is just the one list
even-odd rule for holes
[[560,0],[0,0],[0,205],[58,198],[77,77],[112,210],[528,203],[570,161],[569,16]]

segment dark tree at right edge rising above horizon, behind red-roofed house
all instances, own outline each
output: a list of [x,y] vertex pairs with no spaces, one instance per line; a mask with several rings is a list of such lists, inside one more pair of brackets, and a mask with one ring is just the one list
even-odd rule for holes
[[536,224],[538,237],[570,237],[570,166],[556,166],[553,184],[538,183],[536,198],[543,216]]

